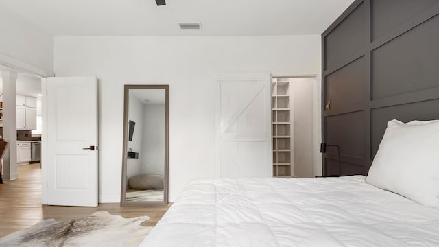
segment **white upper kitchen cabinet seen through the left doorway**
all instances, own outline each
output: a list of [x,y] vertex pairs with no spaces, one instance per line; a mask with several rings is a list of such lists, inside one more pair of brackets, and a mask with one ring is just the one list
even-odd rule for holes
[[16,129],[36,130],[36,98],[16,95]]

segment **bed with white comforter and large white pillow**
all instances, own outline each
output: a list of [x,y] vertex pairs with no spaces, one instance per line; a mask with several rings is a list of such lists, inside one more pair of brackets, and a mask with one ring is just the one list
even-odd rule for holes
[[367,178],[194,180],[141,246],[438,247],[438,140],[392,120]]

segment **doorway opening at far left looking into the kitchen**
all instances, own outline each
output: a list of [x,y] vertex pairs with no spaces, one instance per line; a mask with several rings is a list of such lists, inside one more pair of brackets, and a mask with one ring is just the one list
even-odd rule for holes
[[41,173],[41,76],[25,69],[0,66],[0,137],[9,143],[2,164],[4,183],[26,176],[19,166],[38,167]]

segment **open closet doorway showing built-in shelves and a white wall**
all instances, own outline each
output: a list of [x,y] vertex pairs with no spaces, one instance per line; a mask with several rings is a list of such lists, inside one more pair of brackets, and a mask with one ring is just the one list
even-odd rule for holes
[[316,77],[272,77],[273,176],[314,176],[316,84]]

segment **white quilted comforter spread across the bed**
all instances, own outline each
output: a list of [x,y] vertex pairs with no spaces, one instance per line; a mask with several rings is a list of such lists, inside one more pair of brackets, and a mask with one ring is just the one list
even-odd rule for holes
[[439,210],[365,178],[194,180],[141,246],[439,246]]

